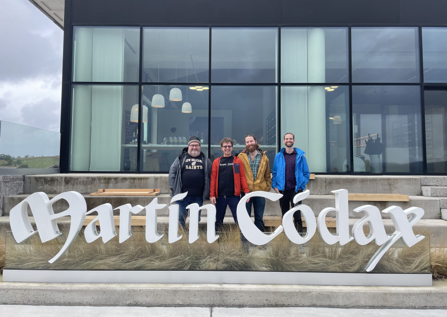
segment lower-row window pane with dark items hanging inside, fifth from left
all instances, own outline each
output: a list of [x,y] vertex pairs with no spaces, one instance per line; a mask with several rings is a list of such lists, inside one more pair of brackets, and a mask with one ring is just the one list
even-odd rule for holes
[[419,86],[353,87],[355,172],[422,173],[420,100]]

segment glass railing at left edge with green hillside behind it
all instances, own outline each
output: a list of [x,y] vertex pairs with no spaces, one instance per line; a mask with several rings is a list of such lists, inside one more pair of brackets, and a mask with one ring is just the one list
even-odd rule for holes
[[61,133],[0,121],[0,175],[59,173]]

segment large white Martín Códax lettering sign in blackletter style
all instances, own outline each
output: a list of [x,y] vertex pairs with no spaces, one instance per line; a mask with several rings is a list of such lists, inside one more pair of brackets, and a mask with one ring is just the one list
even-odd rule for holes
[[[391,235],[385,233],[385,228],[380,216],[380,211],[377,207],[372,205],[364,205],[354,209],[354,212],[365,213],[362,219],[359,219],[352,228],[352,236],[349,232],[349,211],[348,211],[348,191],[334,190],[335,194],[335,208],[327,207],[321,210],[318,219],[315,220],[312,209],[305,205],[298,205],[289,210],[283,217],[282,225],[279,226],[273,233],[261,232],[251,221],[247,210],[245,208],[245,201],[254,196],[265,197],[267,199],[276,201],[282,197],[282,194],[254,191],[245,195],[237,205],[237,220],[240,231],[245,238],[255,245],[265,245],[273,240],[281,232],[285,232],[286,236],[296,244],[303,244],[308,242],[316,232],[321,235],[321,238],[329,245],[339,243],[341,246],[347,244],[351,240],[355,240],[359,245],[366,245],[372,241],[378,246],[381,246],[368,262],[365,270],[370,272],[373,270],[380,258],[385,252],[400,238],[406,246],[412,247],[422,239],[424,236],[415,235],[413,233],[413,225],[422,218],[424,210],[419,207],[410,207],[402,210],[401,207],[391,206],[381,212],[389,214],[392,219],[395,231]],[[294,197],[294,202],[304,200],[310,194],[309,190],[298,193]],[[171,199],[169,208],[169,229],[168,242],[174,243],[182,238],[178,235],[178,205],[173,202],[183,199],[187,193],[175,195]],[[68,202],[69,207],[60,213],[55,214],[53,211],[53,204],[64,199]],[[28,206],[34,216],[37,230],[34,230],[28,218]],[[149,243],[157,242],[163,234],[157,232],[157,210],[166,207],[166,204],[158,204],[158,199],[155,197],[147,206],[140,205],[132,207],[131,204],[125,204],[113,209],[110,203],[105,203],[97,206],[87,212],[87,205],[82,195],[76,191],[63,192],[53,199],[49,199],[44,192],[35,192],[25,198],[23,201],[14,206],[10,213],[10,225],[12,234],[17,243],[24,241],[33,234],[39,232],[40,240],[42,242],[50,241],[59,235],[61,232],[58,228],[57,219],[64,216],[71,217],[70,230],[67,240],[50,263],[56,261],[62,254],[64,254],[70,245],[73,243],[78,232],[81,230],[85,220],[85,216],[96,212],[95,217],[85,228],[84,236],[87,243],[93,242],[98,238],[106,243],[117,234],[115,232],[115,223],[113,220],[113,210],[119,210],[119,242],[122,243],[131,236],[131,217],[133,214],[140,213],[143,209],[146,210],[146,241]],[[189,223],[189,243],[195,242],[199,239],[199,211],[201,209],[207,210],[207,241],[208,243],[215,242],[219,235],[215,232],[216,207],[212,204],[199,206],[196,203],[187,206],[190,212]],[[304,236],[298,234],[293,222],[293,214],[295,211],[301,210],[301,216],[304,218],[307,226],[307,233]],[[326,227],[325,218],[329,211],[335,211],[336,215],[336,233],[329,232]],[[100,232],[96,231],[96,222],[99,222],[101,228]],[[367,236],[363,231],[363,225],[367,224],[370,227],[370,234]]]

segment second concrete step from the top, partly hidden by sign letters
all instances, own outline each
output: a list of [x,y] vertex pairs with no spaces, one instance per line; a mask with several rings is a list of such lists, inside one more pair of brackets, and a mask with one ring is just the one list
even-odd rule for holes
[[[25,199],[28,194],[20,194],[20,195],[10,195],[3,197],[3,215],[9,215],[9,211],[12,207],[18,204],[20,201]],[[56,194],[48,194],[48,197],[51,199]],[[126,203],[130,203],[131,205],[141,205],[146,206],[149,204],[154,196],[90,196],[89,194],[83,194],[85,201],[87,203],[87,210],[91,210],[96,206],[99,206],[103,203],[110,203],[113,208],[121,206]],[[170,204],[170,197],[168,194],[160,194],[156,196],[159,204]],[[209,200],[204,201],[204,204],[210,203]],[[303,202],[303,204],[308,205],[312,208],[315,216],[318,216],[321,210],[326,207],[335,207],[335,196],[333,194],[330,195],[309,195]],[[421,207],[424,209],[425,214],[423,219],[440,219],[440,199],[438,197],[425,197],[425,196],[410,196],[410,201],[349,201],[349,216],[352,218],[361,218],[363,217],[363,212],[355,213],[353,209],[363,206],[363,205],[374,205],[379,210],[383,210],[390,206],[399,206],[402,209],[407,209],[410,207]],[[68,207],[68,203],[66,201],[60,200],[53,205],[55,212],[61,212]],[[162,208],[158,210],[159,216],[167,216],[168,208]],[[115,215],[118,214],[118,210],[114,211]],[[145,210],[141,212],[141,215],[145,214]],[[202,215],[206,215],[206,210],[202,211]],[[29,211],[29,215],[31,213]],[[230,216],[231,212],[227,208],[226,215]],[[266,199],[266,206],[264,210],[265,216],[280,216],[281,209],[278,201],[271,201]],[[334,217],[335,212],[329,212],[328,217]],[[382,213],[382,218],[389,218],[387,214]]]

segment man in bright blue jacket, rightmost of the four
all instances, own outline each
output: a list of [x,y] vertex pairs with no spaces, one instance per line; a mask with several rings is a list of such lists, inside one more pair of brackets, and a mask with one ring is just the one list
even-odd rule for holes
[[[272,188],[277,193],[283,194],[280,199],[280,206],[281,213],[284,216],[291,209],[291,205],[294,207],[293,199],[295,195],[306,189],[310,173],[304,152],[297,147],[293,147],[295,135],[290,132],[286,133],[283,142],[286,147],[283,147],[276,154],[273,163]],[[300,203],[299,201],[297,204]],[[294,214],[294,223],[297,231],[301,233],[302,220],[299,210]]]

